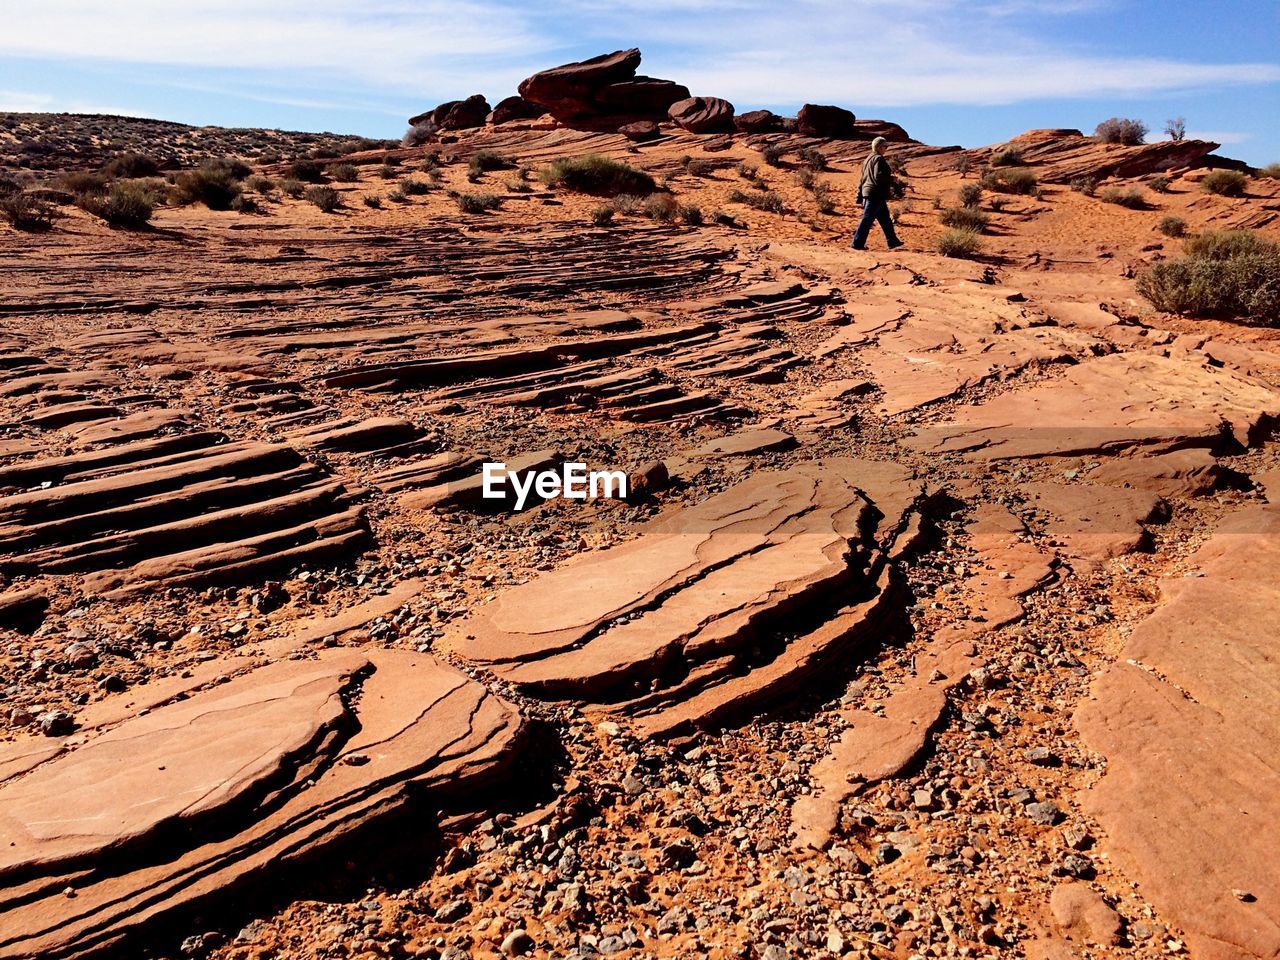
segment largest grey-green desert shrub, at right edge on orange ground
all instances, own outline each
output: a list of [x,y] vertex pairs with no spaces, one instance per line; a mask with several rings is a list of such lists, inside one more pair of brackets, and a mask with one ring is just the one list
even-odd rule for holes
[[1215,230],[1187,241],[1185,253],[1138,278],[1138,293],[1156,310],[1280,324],[1280,243]]

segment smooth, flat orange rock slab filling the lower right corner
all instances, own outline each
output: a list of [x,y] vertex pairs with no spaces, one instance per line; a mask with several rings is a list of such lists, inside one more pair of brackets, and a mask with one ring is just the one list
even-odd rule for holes
[[1208,960],[1280,955],[1280,509],[1249,507],[1161,584],[1076,723],[1106,755],[1087,808]]

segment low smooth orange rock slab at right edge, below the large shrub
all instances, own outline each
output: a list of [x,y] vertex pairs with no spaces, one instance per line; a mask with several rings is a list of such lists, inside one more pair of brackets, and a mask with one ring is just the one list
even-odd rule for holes
[[1268,385],[1188,357],[1116,353],[1079,364],[1061,379],[964,407],[922,426],[909,443],[982,460],[1165,452],[1257,443],[1280,398]]

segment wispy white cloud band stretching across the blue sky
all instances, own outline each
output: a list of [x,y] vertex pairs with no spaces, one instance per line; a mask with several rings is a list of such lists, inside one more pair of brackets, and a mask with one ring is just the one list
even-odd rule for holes
[[182,67],[229,96],[316,106],[502,96],[534,69],[628,45],[646,49],[646,73],[751,106],[987,105],[1280,82],[1276,64],[1088,55],[1056,38],[1055,24],[1102,4],[44,0],[9,18],[0,54]]

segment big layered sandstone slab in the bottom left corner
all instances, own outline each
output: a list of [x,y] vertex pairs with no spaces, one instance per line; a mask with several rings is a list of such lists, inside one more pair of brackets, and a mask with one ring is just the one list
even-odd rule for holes
[[521,728],[429,655],[333,650],[28,750],[0,765],[0,957],[118,947],[367,841],[424,795],[421,815],[465,805]]

